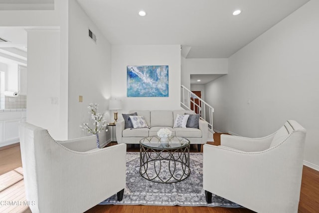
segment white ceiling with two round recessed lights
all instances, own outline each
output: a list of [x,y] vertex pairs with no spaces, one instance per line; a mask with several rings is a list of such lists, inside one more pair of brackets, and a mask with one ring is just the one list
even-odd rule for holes
[[77,1],[112,44],[181,44],[187,58],[227,58],[309,0]]

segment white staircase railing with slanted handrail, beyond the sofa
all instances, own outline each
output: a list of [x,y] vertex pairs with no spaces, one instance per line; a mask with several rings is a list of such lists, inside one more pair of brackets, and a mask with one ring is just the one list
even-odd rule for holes
[[185,110],[192,110],[196,114],[200,114],[200,119],[208,123],[207,141],[213,142],[213,134],[215,133],[213,130],[214,108],[183,85],[180,86],[180,92],[180,106]]

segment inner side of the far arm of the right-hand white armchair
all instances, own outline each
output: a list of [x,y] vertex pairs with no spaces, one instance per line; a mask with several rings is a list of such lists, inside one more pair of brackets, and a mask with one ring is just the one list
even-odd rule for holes
[[263,138],[245,138],[222,134],[220,145],[245,152],[259,152],[269,148],[274,135],[275,133]]

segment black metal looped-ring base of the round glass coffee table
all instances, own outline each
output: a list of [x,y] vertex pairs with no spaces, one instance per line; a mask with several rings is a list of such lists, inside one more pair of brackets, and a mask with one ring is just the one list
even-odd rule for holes
[[140,146],[143,178],[155,182],[170,184],[186,179],[190,174],[189,145],[183,148],[159,150]]

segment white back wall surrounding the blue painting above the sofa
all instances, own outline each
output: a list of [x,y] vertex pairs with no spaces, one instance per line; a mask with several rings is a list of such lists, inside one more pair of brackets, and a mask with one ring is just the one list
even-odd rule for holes
[[[180,45],[112,45],[112,97],[122,99],[119,112],[179,109],[180,61]],[[168,65],[169,97],[127,97],[128,65]]]

